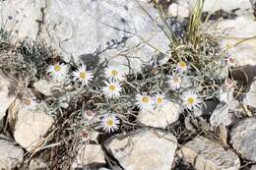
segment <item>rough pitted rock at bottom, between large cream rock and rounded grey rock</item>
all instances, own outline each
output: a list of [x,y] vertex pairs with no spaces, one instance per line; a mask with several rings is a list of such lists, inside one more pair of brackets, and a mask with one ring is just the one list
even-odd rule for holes
[[238,170],[240,167],[240,160],[236,154],[204,137],[187,142],[178,154],[185,161],[192,163],[197,170]]

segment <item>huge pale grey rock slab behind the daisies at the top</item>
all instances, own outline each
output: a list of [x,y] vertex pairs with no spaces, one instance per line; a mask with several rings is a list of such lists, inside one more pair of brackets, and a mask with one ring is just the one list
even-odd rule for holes
[[10,0],[0,2],[0,11],[0,25],[15,40],[43,39],[65,61],[74,56],[78,62],[100,48],[101,60],[127,71],[129,56],[132,68],[140,70],[168,50],[169,40],[156,23],[158,12],[145,0]]

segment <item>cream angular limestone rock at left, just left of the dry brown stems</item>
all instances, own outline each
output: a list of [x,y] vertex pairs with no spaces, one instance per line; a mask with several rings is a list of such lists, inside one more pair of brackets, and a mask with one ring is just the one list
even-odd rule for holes
[[41,142],[44,142],[43,136],[52,126],[53,118],[40,108],[31,110],[27,107],[20,107],[16,115],[14,123],[15,141],[28,151],[32,151]]

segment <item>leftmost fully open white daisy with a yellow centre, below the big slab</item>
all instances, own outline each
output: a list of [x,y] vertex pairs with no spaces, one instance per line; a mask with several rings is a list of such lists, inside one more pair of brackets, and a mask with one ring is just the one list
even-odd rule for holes
[[47,73],[52,79],[62,80],[67,76],[68,67],[65,64],[50,65]]

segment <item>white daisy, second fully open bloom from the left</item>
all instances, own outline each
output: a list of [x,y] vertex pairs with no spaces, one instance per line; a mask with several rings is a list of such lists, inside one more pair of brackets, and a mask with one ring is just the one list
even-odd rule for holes
[[87,71],[87,67],[82,65],[76,72],[73,72],[73,77],[76,81],[81,82],[82,85],[88,85],[94,78],[91,72]]

